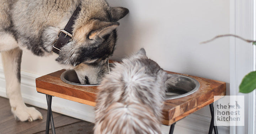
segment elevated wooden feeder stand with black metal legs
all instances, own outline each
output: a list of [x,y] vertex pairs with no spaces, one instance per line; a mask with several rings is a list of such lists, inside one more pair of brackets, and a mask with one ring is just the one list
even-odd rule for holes
[[[52,128],[52,133],[55,134],[51,109],[52,96],[87,104],[90,106],[95,106],[96,104],[95,100],[97,94],[97,87],[85,87],[66,84],[60,79],[60,75],[64,71],[65,70],[59,70],[54,73],[44,75],[42,77],[38,77],[36,79],[37,91],[46,94],[47,97],[48,110],[46,134],[49,133],[50,124]],[[178,74],[170,71],[167,71],[167,73]],[[209,127],[209,134],[212,134],[213,129],[214,133],[218,134],[217,126],[214,126],[213,101],[214,96],[226,95],[226,84],[225,82],[205,79],[196,76],[190,77],[196,79],[199,82],[200,88],[191,95],[181,98],[175,98],[172,100],[166,100],[163,109],[164,119],[162,120],[162,124],[171,125],[169,134],[172,134],[174,131],[175,123],[178,120],[209,105],[212,115]]]

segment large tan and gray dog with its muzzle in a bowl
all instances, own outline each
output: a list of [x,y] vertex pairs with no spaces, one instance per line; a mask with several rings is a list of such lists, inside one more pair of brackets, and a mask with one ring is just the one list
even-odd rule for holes
[[45,56],[78,5],[81,11],[73,25],[73,40],[62,47],[58,63],[75,69],[81,83],[99,83],[107,73],[107,60],[116,43],[123,7],[110,7],[105,0],[0,0],[0,52],[4,64],[6,93],[11,111],[21,121],[42,119],[27,107],[20,91],[22,49]]

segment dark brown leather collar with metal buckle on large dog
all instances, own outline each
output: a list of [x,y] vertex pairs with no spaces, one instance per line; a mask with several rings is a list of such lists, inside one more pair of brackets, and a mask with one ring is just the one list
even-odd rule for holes
[[81,4],[76,7],[76,10],[74,11],[73,15],[70,17],[68,23],[66,24],[65,28],[63,30],[60,30],[58,33],[58,39],[56,42],[53,43],[53,50],[52,52],[59,55],[59,52],[61,51],[61,48],[67,44],[68,42],[72,41],[73,39],[73,25],[76,20],[76,17],[78,16],[79,12],[81,11]]

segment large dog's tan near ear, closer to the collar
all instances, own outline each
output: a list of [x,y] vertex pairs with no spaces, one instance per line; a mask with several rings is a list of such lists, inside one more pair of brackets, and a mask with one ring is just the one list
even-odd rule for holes
[[90,32],[88,35],[89,39],[103,38],[116,29],[119,26],[119,22],[100,22],[99,25],[101,25],[100,29]]

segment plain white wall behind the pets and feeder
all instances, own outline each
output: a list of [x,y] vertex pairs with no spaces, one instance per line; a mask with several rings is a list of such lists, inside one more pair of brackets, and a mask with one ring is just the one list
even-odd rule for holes
[[[129,14],[119,22],[113,59],[144,47],[149,58],[168,71],[227,82],[229,94],[229,38],[199,44],[229,33],[229,0],[108,0]],[[61,67],[57,56],[35,57],[23,52],[22,71],[44,75]],[[210,116],[209,107],[196,113]],[[184,119],[185,120],[185,119]]]

